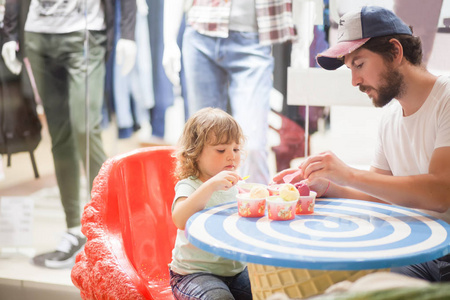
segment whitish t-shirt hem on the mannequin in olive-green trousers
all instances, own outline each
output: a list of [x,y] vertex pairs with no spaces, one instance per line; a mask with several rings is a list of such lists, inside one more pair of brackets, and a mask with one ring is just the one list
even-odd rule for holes
[[106,28],[101,0],[31,0],[25,31],[58,34],[81,31],[85,28],[88,30]]

